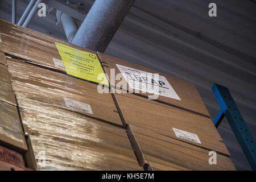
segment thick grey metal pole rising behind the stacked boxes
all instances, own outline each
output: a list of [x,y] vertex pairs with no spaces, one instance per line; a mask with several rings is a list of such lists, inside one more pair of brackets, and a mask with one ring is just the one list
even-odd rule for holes
[[134,0],[96,0],[73,38],[73,44],[104,52]]

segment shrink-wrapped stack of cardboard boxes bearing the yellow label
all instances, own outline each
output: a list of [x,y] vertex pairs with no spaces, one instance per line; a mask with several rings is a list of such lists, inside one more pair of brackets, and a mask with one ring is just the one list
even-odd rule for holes
[[9,56],[4,74],[35,158],[28,163],[39,170],[142,170],[112,94],[55,66],[55,42],[71,44],[1,23],[1,51]]

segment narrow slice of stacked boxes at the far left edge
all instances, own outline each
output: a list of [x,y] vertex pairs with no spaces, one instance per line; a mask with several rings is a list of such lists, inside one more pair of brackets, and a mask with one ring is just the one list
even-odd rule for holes
[[22,154],[27,150],[27,144],[7,72],[5,55],[2,52],[0,52],[0,139],[0,169],[24,169]]

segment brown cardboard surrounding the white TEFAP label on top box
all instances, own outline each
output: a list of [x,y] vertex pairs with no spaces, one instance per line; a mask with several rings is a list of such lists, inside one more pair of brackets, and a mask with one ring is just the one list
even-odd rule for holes
[[[149,73],[159,73],[152,69],[142,67],[140,65],[132,64],[127,61],[118,59],[116,57],[106,55],[104,53],[98,52],[98,57],[100,57],[100,61],[102,62],[104,71],[108,74],[109,77],[110,77],[110,69],[115,69],[115,75],[120,73],[119,69],[115,64],[124,65],[126,67],[139,69],[141,71],[145,71]],[[182,80],[177,77],[169,76],[164,73],[159,73],[159,75],[166,77],[167,81],[170,83],[172,88],[174,88],[175,92],[177,93],[177,95],[180,97],[181,100],[159,96],[157,99],[158,101],[163,102],[164,104],[178,106],[185,110],[189,110],[192,112],[209,116],[209,112],[205,107],[203,100],[201,100],[200,94],[197,92],[195,85],[193,85],[191,82]],[[122,77],[122,79],[124,78]],[[117,85],[118,82],[119,80],[115,80],[115,85]],[[128,84],[127,84],[127,88],[129,88]],[[141,94],[142,96],[152,95],[151,93],[142,93],[142,92],[140,92],[139,94]]]

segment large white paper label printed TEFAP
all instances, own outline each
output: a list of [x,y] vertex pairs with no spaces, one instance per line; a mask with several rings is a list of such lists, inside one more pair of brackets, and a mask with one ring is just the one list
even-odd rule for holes
[[157,73],[144,72],[119,64],[115,65],[117,65],[117,68],[122,73],[130,88],[180,100],[180,97],[167,81],[166,77],[160,76]]

